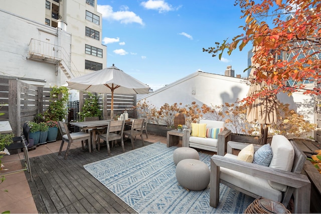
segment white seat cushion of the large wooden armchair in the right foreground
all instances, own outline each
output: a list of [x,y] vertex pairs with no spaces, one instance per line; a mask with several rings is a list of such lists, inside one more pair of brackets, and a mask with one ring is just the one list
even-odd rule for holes
[[[229,153],[227,153],[225,157],[237,159],[236,155]],[[220,178],[231,184],[240,186],[242,189],[253,192],[254,194],[257,194],[259,196],[274,201],[281,201],[282,199],[282,192],[272,188],[267,182],[267,180],[263,178],[254,177],[252,175],[248,175],[224,167],[221,167]]]

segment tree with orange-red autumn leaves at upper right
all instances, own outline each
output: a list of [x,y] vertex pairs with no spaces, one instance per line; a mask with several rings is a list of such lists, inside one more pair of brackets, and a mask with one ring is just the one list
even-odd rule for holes
[[[245,19],[241,26],[244,34],[238,35],[215,47],[203,48],[204,52],[218,55],[224,51],[230,55],[233,50],[242,50],[246,45],[255,47],[253,67],[255,81],[265,81],[276,87],[261,93],[276,94],[279,91],[291,94],[303,90],[304,94],[321,95],[321,2],[311,0],[236,0]],[[264,18],[272,17],[272,25]],[[287,59],[277,56],[285,54]],[[245,69],[245,70],[247,70]],[[295,87],[287,80],[296,81]],[[306,88],[303,80],[315,84]],[[261,94],[262,96],[262,94]],[[246,99],[249,101],[249,98]]]

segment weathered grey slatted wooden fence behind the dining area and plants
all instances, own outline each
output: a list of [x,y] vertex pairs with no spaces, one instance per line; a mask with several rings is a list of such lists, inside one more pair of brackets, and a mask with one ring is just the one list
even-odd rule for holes
[[[14,78],[0,78],[0,121],[9,121],[15,135],[22,133],[23,124],[33,121],[37,114],[41,114],[49,107],[51,88],[37,87]],[[101,107],[101,119],[110,119],[111,95],[98,94]],[[86,92],[79,93],[79,111]],[[135,118],[133,106],[136,95],[114,95],[114,114],[118,115],[127,110],[129,117]],[[68,119],[68,117],[66,118]]]

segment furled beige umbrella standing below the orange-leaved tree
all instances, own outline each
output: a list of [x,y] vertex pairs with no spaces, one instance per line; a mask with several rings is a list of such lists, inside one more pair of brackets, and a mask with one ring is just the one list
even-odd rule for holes
[[[253,97],[264,88],[272,89],[265,82],[254,83],[250,86],[248,97]],[[249,122],[257,121],[261,124],[261,137],[259,142],[264,145],[267,142],[268,125],[277,121],[276,116],[276,95],[259,96],[247,107],[246,119]]]

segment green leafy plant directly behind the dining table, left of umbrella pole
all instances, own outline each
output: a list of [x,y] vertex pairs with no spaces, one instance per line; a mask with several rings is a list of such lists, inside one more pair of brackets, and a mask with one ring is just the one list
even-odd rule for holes
[[85,117],[100,117],[101,110],[98,104],[98,98],[96,95],[88,92],[89,98],[84,102],[81,112],[79,112],[80,120],[84,121]]

